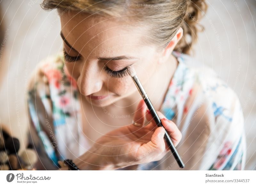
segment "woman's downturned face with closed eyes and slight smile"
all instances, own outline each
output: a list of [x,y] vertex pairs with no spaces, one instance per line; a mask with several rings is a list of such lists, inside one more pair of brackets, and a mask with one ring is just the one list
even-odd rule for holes
[[156,47],[143,45],[143,29],[87,16],[68,11],[60,18],[65,64],[88,102],[108,106],[137,91],[122,69],[133,64],[143,84],[157,70],[159,54]]

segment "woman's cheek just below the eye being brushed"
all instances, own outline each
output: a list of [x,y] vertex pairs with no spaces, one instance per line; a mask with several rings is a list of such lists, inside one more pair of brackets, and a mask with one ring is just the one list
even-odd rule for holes
[[108,90],[118,94],[119,96],[131,93],[135,88],[136,86],[134,85],[130,76],[120,79],[113,79],[111,82],[108,82]]

